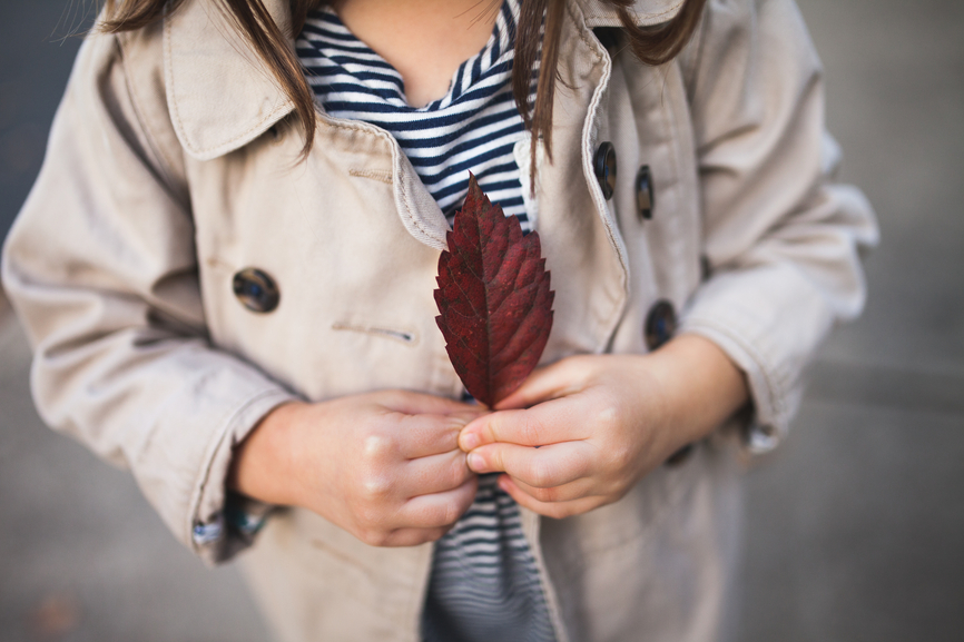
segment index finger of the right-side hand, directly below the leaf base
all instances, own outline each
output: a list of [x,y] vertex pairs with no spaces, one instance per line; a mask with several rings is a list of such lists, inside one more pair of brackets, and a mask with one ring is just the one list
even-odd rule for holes
[[484,444],[504,442],[520,446],[545,446],[574,442],[592,434],[580,394],[551,399],[523,411],[499,411],[472,421],[459,435],[466,453]]

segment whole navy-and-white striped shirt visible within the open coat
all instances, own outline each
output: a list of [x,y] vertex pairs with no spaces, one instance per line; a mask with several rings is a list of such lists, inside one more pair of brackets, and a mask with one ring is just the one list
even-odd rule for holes
[[[401,75],[329,8],[308,16],[297,41],[325,111],[391,132],[450,224],[469,171],[523,230],[535,224],[523,188],[529,135],[509,81],[518,9],[518,0],[504,1],[482,51],[459,67],[444,97],[421,108],[409,106]],[[472,506],[435,543],[422,620],[426,642],[555,640],[519,506],[496,480],[480,478]]]

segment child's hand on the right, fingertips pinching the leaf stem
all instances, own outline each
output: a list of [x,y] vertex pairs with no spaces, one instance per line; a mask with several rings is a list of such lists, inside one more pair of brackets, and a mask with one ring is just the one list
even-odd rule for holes
[[[537,371],[460,435],[476,473],[549,517],[616,502],[747,399],[742,374],[694,335],[649,355],[577,356]],[[533,446],[540,446],[535,448]]]

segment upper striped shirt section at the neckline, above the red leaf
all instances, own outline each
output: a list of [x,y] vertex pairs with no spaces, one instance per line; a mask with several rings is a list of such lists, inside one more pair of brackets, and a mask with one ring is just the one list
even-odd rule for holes
[[296,47],[325,111],[391,132],[450,224],[472,171],[492,203],[529,231],[532,213],[513,156],[528,138],[509,82],[515,14],[518,0],[506,0],[485,48],[459,67],[444,97],[420,108],[407,103],[402,76],[331,8],[308,16]]

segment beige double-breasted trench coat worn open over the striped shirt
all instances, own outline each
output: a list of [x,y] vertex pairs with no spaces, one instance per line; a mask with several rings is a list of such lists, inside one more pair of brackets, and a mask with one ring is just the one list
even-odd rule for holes
[[[287,2],[267,2],[279,23]],[[640,0],[640,23],[677,0]],[[786,431],[800,372],[864,299],[873,214],[834,184],[820,69],[789,0],[712,0],[673,62],[647,68],[568,0],[554,158],[540,162],[538,229],[555,289],[543,363],[642,353],[652,304],[746,372],[751,445]],[[597,29],[597,31],[593,31]],[[294,396],[377,388],[456,397],[432,293],[446,224],[394,140],[319,116],[298,162],[292,106],[212,2],[88,38],[47,159],[3,254],[36,348],[45,419],[128,466],[177,537],[224,502],[257,421]],[[610,200],[593,156],[612,141]],[[639,216],[635,177],[656,207]],[[701,269],[701,264],[708,270]],[[233,294],[257,267],[269,314]],[[567,640],[714,640],[727,614],[739,513],[738,441],[720,436],[620,502],[562,521],[523,511],[553,624]],[[273,517],[244,555],[284,640],[419,639],[431,545],[370,547],[322,517]]]

